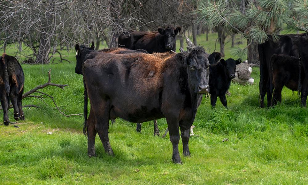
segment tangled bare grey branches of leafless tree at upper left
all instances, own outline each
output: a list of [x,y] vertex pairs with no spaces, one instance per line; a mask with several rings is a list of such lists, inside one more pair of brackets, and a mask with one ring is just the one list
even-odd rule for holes
[[59,45],[105,34],[117,38],[133,29],[142,23],[139,6],[129,0],[0,0],[0,42],[4,47],[18,43],[20,50],[23,43],[32,49],[35,63],[46,64]]

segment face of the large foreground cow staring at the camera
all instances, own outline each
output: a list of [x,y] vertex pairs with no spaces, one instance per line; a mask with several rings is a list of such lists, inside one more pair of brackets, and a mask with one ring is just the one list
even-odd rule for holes
[[188,83],[195,93],[209,92],[209,55],[202,47],[192,49],[188,54],[179,53],[177,56],[187,66]]

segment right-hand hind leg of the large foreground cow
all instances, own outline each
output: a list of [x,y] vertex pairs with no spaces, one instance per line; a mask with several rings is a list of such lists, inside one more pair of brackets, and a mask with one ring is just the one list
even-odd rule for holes
[[[100,102],[100,104],[93,105],[93,109],[95,107],[100,107],[101,109],[96,110],[95,112],[95,130],[97,131],[100,140],[103,143],[105,152],[109,155],[114,155],[113,150],[110,146],[109,142],[109,103],[108,102],[102,102],[101,100],[98,100],[97,102]],[[92,103],[92,102],[91,102]]]

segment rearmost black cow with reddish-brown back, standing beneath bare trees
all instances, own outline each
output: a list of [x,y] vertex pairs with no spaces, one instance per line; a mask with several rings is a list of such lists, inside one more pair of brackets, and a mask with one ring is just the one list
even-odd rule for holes
[[119,36],[119,47],[128,49],[145,49],[148,53],[166,52],[176,50],[176,35],[181,27],[174,29],[168,26],[165,29],[158,28],[155,32],[132,31]]

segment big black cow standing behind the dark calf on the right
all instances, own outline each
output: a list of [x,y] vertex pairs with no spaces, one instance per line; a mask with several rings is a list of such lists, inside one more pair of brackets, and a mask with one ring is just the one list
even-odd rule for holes
[[[274,54],[282,54],[288,56],[295,56],[299,58],[299,55],[302,55],[302,61],[308,61],[307,54],[307,33],[303,34],[289,34],[289,35],[278,35],[279,40],[274,41],[271,35],[268,35],[268,40],[262,44],[258,45],[259,59],[260,59],[260,107],[264,108],[264,97],[267,95],[267,106],[271,106],[271,92],[270,89],[270,58]],[[308,72],[308,64],[305,62],[303,66],[306,66],[305,71]],[[301,84],[299,84],[301,85]],[[306,88],[304,88],[306,89]],[[308,90],[308,88],[307,88]],[[308,91],[302,92],[302,105],[306,106]]]

